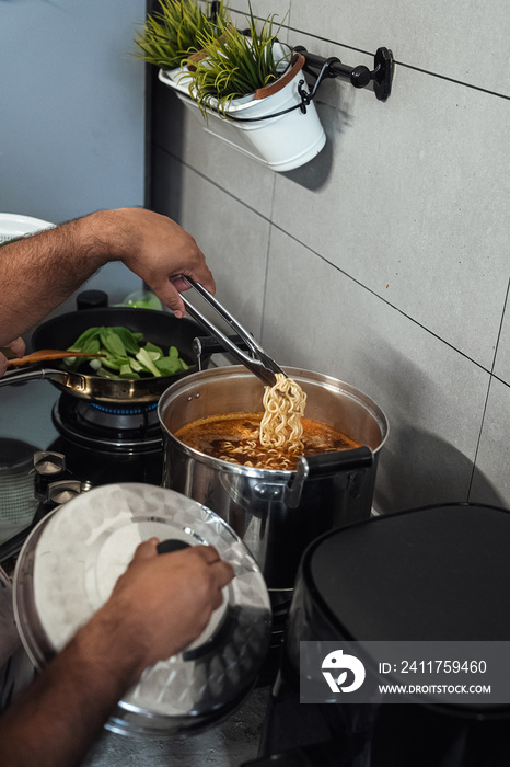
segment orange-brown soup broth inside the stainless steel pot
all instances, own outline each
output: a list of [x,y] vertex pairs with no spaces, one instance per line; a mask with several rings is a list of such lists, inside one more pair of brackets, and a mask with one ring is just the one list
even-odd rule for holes
[[359,447],[346,434],[326,424],[303,417],[303,449],[292,453],[260,444],[264,413],[228,413],[192,421],[175,432],[175,437],[199,453],[256,469],[292,470],[299,455],[313,456]]

